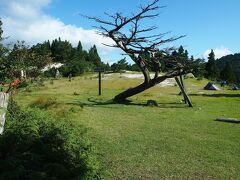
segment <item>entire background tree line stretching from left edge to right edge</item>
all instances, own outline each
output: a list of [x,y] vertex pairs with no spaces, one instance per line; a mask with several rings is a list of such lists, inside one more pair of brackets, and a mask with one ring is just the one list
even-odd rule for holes
[[[69,41],[55,39],[52,42],[45,41],[38,43],[32,47],[27,46],[24,41],[17,41],[12,48],[4,46],[1,42],[3,40],[2,22],[0,21],[0,81],[6,79],[13,79],[24,75],[27,77],[38,77],[42,74],[42,69],[50,63],[61,63],[59,68],[63,76],[78,76],[85,72],[92,72],[96,67],[101,67],[105,71],[122,72],[140,71],[136,64],[129,64],[126,58],[120,59],[118,62],[109,65],[103,63],[97,47],[93,45],[88,51],[83,49],[81,41],[76,47],[73,47]],[[149,52],[142,52],[139,55],[146,61],[151,61],[151,54]],[[228,55],[219,60],[215,59],[213,50],[208,56],[208,61],[204,59],[194,59],[189,57],[188,51],[180,46],[177,50],[172,51],[169,55],[155,54],[161,64],[161,70],[167,71],[168,67],[165,65],[167,59],[179,59],[180,61],[194,62],[195,66],[192,73],[197,78],[208,78],[210,80],[224,80],[229,83],[236,83],[240,81],[238,62],[239,54]],[[239,66],[239,67],[238,67]],[[150,67],[151,71],[155,71],[155,67]],[[56,69],[52,68],[44,72],[45,76],[54,77]]]

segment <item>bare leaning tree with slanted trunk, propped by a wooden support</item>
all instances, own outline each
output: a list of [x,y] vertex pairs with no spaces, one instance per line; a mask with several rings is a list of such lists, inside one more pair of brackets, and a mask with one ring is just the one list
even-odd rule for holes
[[[99,34],[114,41],[113,45],[104,45],[122,49],[144,75],[143,83],[116,95],[113,99],[115,102],[125,101],[128,97],[143,92],[168,78],[177,78],[192,69],[190,61],[178,56],[171,56],[174,48],[166,47],[166,43],[183,36],[166,38],[169,32],[154,34],[157,30],[156,26],[142,27],[143,20],[152,20],[159,15],[158,10],[162,6],[158,6],[158,2],[159,0],[154,0],[146,6],[140,6],[139,13],[131,14],[131,16],[124,16],[122,13],[113,15],[105,13],[106,20],[87,16],[98,23],[94,27],[98,29]],[[155,75],[151,77],[150,72],[154,72]],[[179,82],[178,79],[176,80]]]

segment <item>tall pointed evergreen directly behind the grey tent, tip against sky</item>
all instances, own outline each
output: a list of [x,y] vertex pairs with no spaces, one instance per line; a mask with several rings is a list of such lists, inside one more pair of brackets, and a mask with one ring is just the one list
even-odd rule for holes
[[217,80],[220,76],[219,69],[216,64],[215,60],[215,54],[213,50],[211,50],[211,53],[208,56],[208,62],[206,63],[206,78],[211,80]]

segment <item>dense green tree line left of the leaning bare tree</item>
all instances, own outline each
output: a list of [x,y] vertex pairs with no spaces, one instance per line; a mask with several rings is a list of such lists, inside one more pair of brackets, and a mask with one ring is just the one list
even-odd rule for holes
[[[4,46],[2,34],[0,20],[0,81],[2,82],[23,75],[36,78],[42,74],[42,69],[51,63],[62,64],[59,71],[63,76],[69,74],[78,76],[92,72],[96,67],[111,71],[111,66],[102,62],[95,45],[87,51],[83,49],[81,41],[73,47],[69,41],[58,38],[31,47],[24,41],[17,41],[12,46]],[[114,66],[113,69],[118,71]],[[44,75],[55,76],[55,73],[56,69],[52,68],[44,72]]]

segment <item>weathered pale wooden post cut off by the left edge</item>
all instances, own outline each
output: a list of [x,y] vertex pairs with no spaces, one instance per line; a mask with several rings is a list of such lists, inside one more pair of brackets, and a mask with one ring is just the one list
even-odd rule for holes
[[0,135],[3,133],[9,94],[0,92]]

